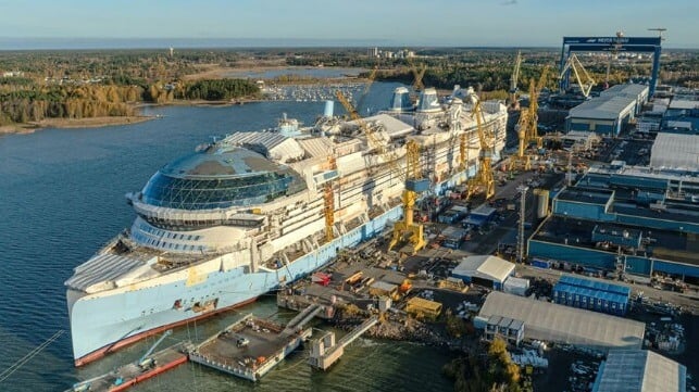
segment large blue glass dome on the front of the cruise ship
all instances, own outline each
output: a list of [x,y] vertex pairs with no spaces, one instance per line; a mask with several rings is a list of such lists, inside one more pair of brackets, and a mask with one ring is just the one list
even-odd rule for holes
[[161,168],[139,201],[166,208],[214,210],[267,203],[303,189],[305,182],[288,166],[244,148],[212,146]]

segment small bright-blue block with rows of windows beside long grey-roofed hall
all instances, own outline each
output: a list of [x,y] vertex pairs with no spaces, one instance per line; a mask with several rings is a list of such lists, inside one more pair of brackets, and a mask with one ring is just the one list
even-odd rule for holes
[[557,304],[623,316],[626,314],[631,288],[604,281],[564,275],[553,287]]

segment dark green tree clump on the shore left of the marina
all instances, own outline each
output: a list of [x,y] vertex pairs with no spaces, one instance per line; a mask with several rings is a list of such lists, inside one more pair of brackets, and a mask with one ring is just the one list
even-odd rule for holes
[[187,100],[223,101],[234,98],[258,96],[260,88],[246,79],[204,79],[197,80],[178,90],[182,96],[175,98]]

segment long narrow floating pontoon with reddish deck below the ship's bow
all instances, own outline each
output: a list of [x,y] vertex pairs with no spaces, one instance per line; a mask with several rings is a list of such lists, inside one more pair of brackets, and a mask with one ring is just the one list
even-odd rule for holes
[[130,363],[105,375],[76,383],[67,391],[125,391],[133,385],[165,372],[187,362],[189,342],[182,342],[171,347]]

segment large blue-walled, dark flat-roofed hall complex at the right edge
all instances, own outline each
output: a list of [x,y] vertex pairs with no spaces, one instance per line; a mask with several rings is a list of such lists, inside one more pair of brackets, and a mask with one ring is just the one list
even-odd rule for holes
[[592,167],[552,200],[529,258],[699,282],[699,167]]

